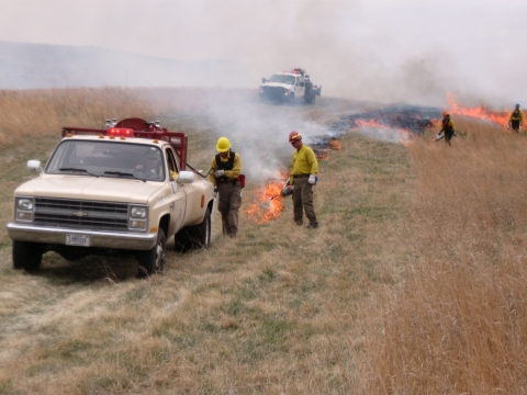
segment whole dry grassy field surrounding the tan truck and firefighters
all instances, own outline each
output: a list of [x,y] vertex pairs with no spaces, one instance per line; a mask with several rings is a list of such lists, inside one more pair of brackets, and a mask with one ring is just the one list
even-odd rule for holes
[[[100,126],[104,106],[161,114],[192,133],[199,166],[225,132],[200,110],[206,92],[110,93],[2,93],[19,120],[0,135],[3,224],[25,161],[46,158],[64,123]],[[346,108],[329,102],[290,111],[329,125]],[[47,120],[19,133],[36,103]],[[147,280],[124,258],[47,253],[37,273],[14,271],[2,227],[0,394],[527,392],[527,140],[455,121],[463,136],[451,148],[347,134],[319,166],[319,229],[295,226],[290,200],[264,225],[242,214],[236,239],[215,213],[210,249],[170,248],[166,272]]]

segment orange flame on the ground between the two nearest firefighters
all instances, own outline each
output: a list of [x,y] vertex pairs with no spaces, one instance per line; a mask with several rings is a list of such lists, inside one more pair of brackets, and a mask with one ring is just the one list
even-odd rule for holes
[[255,189],[253,192],[256,198],[249,208],[245,211],[249,219],[257,224],[277,219],[283,211],[283,198],[280,194],[282,187],[283,181],[272,180],[259,190]]

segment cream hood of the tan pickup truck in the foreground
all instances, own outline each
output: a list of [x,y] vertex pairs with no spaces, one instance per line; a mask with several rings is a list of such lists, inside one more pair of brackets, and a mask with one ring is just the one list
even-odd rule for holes
[[20,185],[15,195],[80,199],[106,202],[147,203],[161,182],[139,180],[44,174]]

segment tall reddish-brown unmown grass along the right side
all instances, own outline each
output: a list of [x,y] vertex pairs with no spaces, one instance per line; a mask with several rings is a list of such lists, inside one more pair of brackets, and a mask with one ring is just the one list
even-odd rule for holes
[[408,148],[413,255],[362,311],[371,394],[527,393],[527,138],[457,123]]

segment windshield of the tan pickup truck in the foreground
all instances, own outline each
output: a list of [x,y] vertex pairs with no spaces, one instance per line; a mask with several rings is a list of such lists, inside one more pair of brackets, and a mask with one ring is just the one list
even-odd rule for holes
[[49,174],[137,178],[165,180],[165,161],[159,148],[150,145],[108,140],[64,140],[46,166]]

